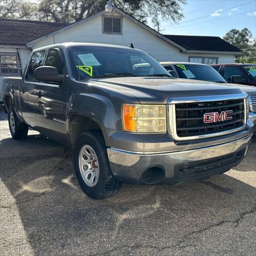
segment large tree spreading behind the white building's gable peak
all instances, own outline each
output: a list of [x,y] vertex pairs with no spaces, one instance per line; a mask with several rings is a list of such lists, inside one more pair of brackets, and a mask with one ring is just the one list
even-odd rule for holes
[[[9,2],[10,0],[1,0],[1,9],[6,9]],[[25,8],[25,3],[28,4],[27,0],[11,0],[11,2],[19,2],[19,7],[13,5],[12,14],[3,13],[2,18],[12,18],[14,14],[20,18],[25,17],[22,12],[27,14]],[[141,22],[147,23],[150,18],[150,21],[156,25],[160,19],[177,23],[183,18],[181,10],[186,0],[115,0],[113,3]],[[30,9],[30,15],[34,19],[75,22],[105,10],[107,0],[40,0],[37,4],[35,2],[30,4],[33,8],[36,6],[36,10]]]

